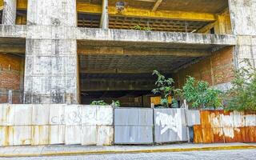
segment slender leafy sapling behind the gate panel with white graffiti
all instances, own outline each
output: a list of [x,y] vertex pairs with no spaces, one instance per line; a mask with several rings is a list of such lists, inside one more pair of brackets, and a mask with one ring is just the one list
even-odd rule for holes
[[155,82],[155,85],[157,88],[152,90],[154,94],[161,94],[162,99],[161,99],[161,105],[165,107],[169,107],[168,104],[168,97],[175,92],[173,83],[174,79],[172,78],[167,78],[160,74],[157,70],[153,71],[153,75],[158,76],[158,80]]

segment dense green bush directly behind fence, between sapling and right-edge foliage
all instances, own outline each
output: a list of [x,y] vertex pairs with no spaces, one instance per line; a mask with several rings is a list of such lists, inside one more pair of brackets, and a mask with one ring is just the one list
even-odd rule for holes
[[180,94],[187,102],[192,104],[192,107],[219,107],[222,106],[222,99],[220,98],[220,90],[215,90],[209,87],[208,82],[198,81],[195,78],[186,78],[186,83],[180,90]]

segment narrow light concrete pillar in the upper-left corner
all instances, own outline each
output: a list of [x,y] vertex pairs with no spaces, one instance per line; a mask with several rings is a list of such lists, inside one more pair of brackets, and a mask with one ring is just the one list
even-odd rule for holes
[[15,25],[17,0],[4,0],[2,24]]

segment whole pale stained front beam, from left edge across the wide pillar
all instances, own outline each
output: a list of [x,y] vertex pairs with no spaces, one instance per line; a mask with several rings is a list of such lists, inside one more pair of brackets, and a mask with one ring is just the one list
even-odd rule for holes
[[[28,34],[27,30],[33,30]],[[43,30],[50,31],[44,34]],[[35,34],[36,33],[36,34]],[[54,35],[54,37],[52,36]],[[0,25],[0,38],[34,38],[34,39],[77,39],[88,42],[134,42],[138,46],[149,43],[158,47],[166,45],[217,45],[234,46],[237,36],[231,34],[190,34],[174,32],[148,32],[139,30],[102,30],[93,28],[78,28],[74,26],[8,26]]]

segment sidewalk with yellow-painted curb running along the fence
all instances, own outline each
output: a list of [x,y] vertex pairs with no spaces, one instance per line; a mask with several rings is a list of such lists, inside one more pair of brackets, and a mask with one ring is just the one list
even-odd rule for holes
[[162,146],[6,146],[0,147],[0,157],[38,157],[75,154],[128,154],[238,149],[256,149],[256,143],[183,143]]

